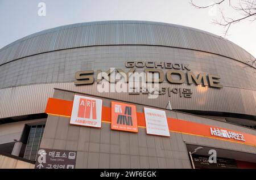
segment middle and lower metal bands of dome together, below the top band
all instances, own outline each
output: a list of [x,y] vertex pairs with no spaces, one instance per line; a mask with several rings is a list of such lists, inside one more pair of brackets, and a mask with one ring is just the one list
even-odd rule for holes
[[[191,72],[220,75],[223,89],[167,83],[160,86],[191,88],[192,98],[159,96],[148,100],[146,96],[127,93],[98,93],[96,87],[75,87],[75,72],[82,70],[107,71],[109,68],[125,67],[126,61],[154,61],[188,64]],[[160,69],[160,67],[158,67]],[[170,69],[162,68],[164,74]],[[144,68],[136,68],[143,72]],[[186,73],[185,71],[183,71]],[[0,118],[44,112],[47,98],[53,88],[70,89],[92,95],[151,104],[164,108],[167,99],[175,109],[205,110],[256,115],[255,68],[233,59],[195,50],[163,46],[92,46],[59,50],[19,59],[0,66]],[[13,110],[15,109],[15,111]]]

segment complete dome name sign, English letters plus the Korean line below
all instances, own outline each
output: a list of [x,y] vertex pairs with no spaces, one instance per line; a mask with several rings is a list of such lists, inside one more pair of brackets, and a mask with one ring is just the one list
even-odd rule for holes
[[[109,68],[106,72],[97,70],[96,82],[98,92],[128,92],[130,95],[139,93],[148,94],[148,98],[157,98],[158,95],[167,91],[184,93],[184,97],[190,98],[191,88],[160,88],[159,84],[195,84],[210,88],[223,88],[220,84],[220,76],[207,74],[206,72],[194,73],[188,64],[154,61],[126,61],[127,72],[121,68]],[[137,72],[137,68],[144,68],[143,72]],[[165,70],[165,71],[164,71]],[[140,70],[141,71],[141,70]],[[166,74],[164,74],[166,72]],[[75,74],[75,85],[88,85],[95,82],[94,71],[78,71]],[[152,96],[154,95],[154,96]]]

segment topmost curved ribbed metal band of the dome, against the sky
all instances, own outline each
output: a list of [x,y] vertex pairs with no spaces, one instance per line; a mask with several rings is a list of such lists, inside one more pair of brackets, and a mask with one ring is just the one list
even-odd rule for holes
[[0,65],[30,55],[100,45],[156,45],[200,50],[243,63],[253,59],[240,46],[199,29],[146,21],[78,23],[20,38],[0,49]]

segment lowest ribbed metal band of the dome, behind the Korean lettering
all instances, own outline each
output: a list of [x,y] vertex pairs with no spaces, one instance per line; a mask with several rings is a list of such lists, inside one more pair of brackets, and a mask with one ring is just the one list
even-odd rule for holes
[[[177,85],[161,83],[161,87],[174,88]],[[82,86],[75,86],[73,83],[48,83],[0,89],[0,118],[44,113],[48,98],[53,96],[53,88],[109,97],[131,103],[158,106],[160,108],[165,108],[168,100],[170,100],[173,109],[256,115],[256,92],[250,89],[224,87],[222,91],[218,91],[219,89],[202,87],[201,85],[182,84],[179,85],[179,88],[192,89],[192,98],[179,97],[179,95],[171,95],[169,97],[168,93],[166,93],[166,95],[159,95],[158,98],[150,99],[147,95],[128,95],[126,92],[100,93],[97,91],[96,83]],[[237,100],[237,97],[240,100]]]

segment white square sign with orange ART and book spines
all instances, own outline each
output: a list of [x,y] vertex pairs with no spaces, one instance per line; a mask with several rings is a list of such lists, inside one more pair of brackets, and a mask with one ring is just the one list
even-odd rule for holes
[[102,100],[75,95],[70,124],[101,127]]

